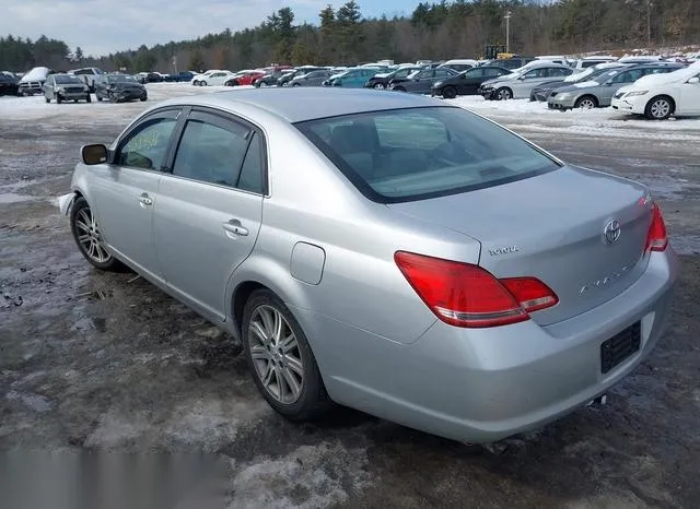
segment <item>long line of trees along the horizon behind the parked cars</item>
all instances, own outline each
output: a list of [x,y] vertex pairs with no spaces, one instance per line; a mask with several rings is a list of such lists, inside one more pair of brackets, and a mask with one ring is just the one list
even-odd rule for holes
[[291,8],[256,27],[207,34],[192,40],[85,57],[45,36],[32,42],[0,37],[0,69],[34,66],[67,70],[96,66],[128,72],[249,69],[272,62],[354,64],[392,59],[482,57],[487,45],[505,44],[524,55],[576,54],[700,43],[698,0],[455,0],[420,2],[410,16],[365,17],[348,1],[328,4],[316,24],[295,23]]

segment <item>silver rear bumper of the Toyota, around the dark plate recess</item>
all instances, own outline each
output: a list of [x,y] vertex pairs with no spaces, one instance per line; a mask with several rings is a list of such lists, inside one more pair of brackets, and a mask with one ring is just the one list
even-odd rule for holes
[[[468,330],[436,321],[400,345],[322,318],[323,333],[339,340],[313,346],[339,403],[459,441],[494,441],[574,411],[632,371],[664,331],[677,263],[670,247],[652,253],[627,291],[548,327],[529,320]],[[639,351],[603,374],[600,345],[637,322]]]

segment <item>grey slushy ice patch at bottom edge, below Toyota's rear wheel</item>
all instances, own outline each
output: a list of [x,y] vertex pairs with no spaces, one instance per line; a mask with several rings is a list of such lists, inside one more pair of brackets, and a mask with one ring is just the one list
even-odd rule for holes
[[363,449],[302,446],[291,454],[244,465],[233,480],[229,509],[316,509],[347,504],[372,483]]

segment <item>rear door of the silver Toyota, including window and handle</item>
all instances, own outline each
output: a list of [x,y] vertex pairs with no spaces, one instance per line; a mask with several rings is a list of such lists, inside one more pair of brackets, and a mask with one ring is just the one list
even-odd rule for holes
[[258,129],[194,109],[161,181],[153,230],[165,281],[211,320],[224,320],[226,283],[260,229],[265,154]]

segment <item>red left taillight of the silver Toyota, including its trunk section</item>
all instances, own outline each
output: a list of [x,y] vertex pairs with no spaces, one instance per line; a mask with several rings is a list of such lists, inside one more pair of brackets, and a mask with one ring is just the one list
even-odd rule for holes
[[536,277],[498,280],[478,265],[398,251],[396,264],[442,321],[483,328],[517,323],[559,299]]

